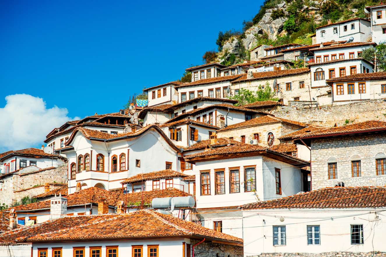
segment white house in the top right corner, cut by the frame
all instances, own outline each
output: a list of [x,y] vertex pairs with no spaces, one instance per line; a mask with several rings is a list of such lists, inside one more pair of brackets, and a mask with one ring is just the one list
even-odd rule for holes
[[381,44],[386,41],[386,5],[366,6],[365,12],[370,13],[372,42]]

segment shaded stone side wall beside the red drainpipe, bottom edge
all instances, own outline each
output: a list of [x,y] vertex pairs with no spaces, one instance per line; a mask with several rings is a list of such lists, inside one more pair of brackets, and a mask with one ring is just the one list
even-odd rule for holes
[[[200,240],[191,239],[190,245],[193,246]],[[192,247],[190,247],[190,256],[192,255]],[[204,241],[196,245],[194,249],[195,257],[242,257],[244,256],[244,248],[237,245],[217,244],[210,241]]]

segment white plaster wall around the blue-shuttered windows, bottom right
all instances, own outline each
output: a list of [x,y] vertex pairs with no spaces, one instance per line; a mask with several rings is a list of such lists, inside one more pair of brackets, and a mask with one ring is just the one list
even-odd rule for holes
[[[244,256],[261,253],[385,252],[381,208],[243,210]],[[372,212],[372,213],[369,213]],[[269,215],[269,216],[267,216]],[[350,217],[342,217],[349,216]],[[339,217],[340,216],[340,217]],[[279,220],[284,217],[284,221]],[[332,218],[334,217],[334,218]],[[351,244],[350,225],[363,224],[364,244]],[[273,245],[273,226],[286,226],[286,245]],[[307,225],[320,225],[320,245],[307,244]],[[374,236],[375,235],[375,236]],[[374,236],[374,237],[373,237]],[[374,248],[372,246],[374,245]]]

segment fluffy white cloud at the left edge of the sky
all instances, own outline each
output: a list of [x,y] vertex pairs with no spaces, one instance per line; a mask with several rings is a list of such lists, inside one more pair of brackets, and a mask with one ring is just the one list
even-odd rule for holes
[[0,108],[0,152],[19,150],[43,144],[46,135],[69,118],[66,108],[46,108],[40,97],[14,94],[5,97],[7,103]]

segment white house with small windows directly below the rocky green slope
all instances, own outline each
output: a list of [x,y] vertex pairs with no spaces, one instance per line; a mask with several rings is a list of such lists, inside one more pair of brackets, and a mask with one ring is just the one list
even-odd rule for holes
[[[331,23],[316,28],[316,43],[326,41],[347,41],[354,38],[353,42],[368,42],[371,40],[370,21],[363,18],[352,18],[341,22]],[[374,42],[374,41],[373,41]]]

